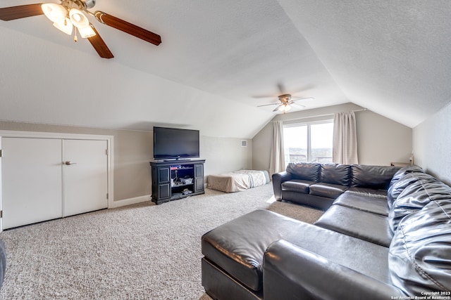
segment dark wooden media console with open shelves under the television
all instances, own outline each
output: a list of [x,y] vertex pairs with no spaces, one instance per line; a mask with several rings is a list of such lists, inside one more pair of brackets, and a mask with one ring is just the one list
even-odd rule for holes
[[204,162],[205,159],[150,162],[152,202],[161,204],[204,194]]

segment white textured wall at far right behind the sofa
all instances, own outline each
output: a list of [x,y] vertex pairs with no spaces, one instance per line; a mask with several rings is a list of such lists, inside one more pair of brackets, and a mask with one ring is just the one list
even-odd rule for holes
[[451,184],[451,103],[413,130],[414,164]]

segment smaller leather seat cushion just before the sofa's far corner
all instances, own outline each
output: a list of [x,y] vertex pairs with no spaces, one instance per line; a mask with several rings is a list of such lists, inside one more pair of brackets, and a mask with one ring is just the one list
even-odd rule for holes
[[380,214],[388,216],[387,200],[378,197],[368,197],[354,193],[344,193],[340,195],[333,204],[341,205],[342,207],[350,207],[359,209],[361,211],[368,211],[373,214]]

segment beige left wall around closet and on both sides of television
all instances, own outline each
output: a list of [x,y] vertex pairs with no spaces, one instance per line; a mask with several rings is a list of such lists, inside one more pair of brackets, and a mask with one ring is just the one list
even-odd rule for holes
[[[152,131],[97,129],[75,126],[56,126],[23,122],[2,122],[1,130],[42,131],[58,133],[100,134],[114,137],[114,201],[148,196],[152,192],[149,162],[153,159]],[[241,146],[247,141],[247,147]],[[252,141],[240,138],[202,136],[200,155],[206,159],[204,173],[218,174],[252,167]],[[148,198],[150,199],[150,198]]]

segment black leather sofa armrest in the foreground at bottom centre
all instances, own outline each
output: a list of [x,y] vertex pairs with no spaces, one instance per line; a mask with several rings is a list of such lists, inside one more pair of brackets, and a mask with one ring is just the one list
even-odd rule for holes
[[[376,266],[375,266],[376,267]],[[285,240],[264,255],[264,299],[373,299],[405,296],[393,285],[342,266]]]

